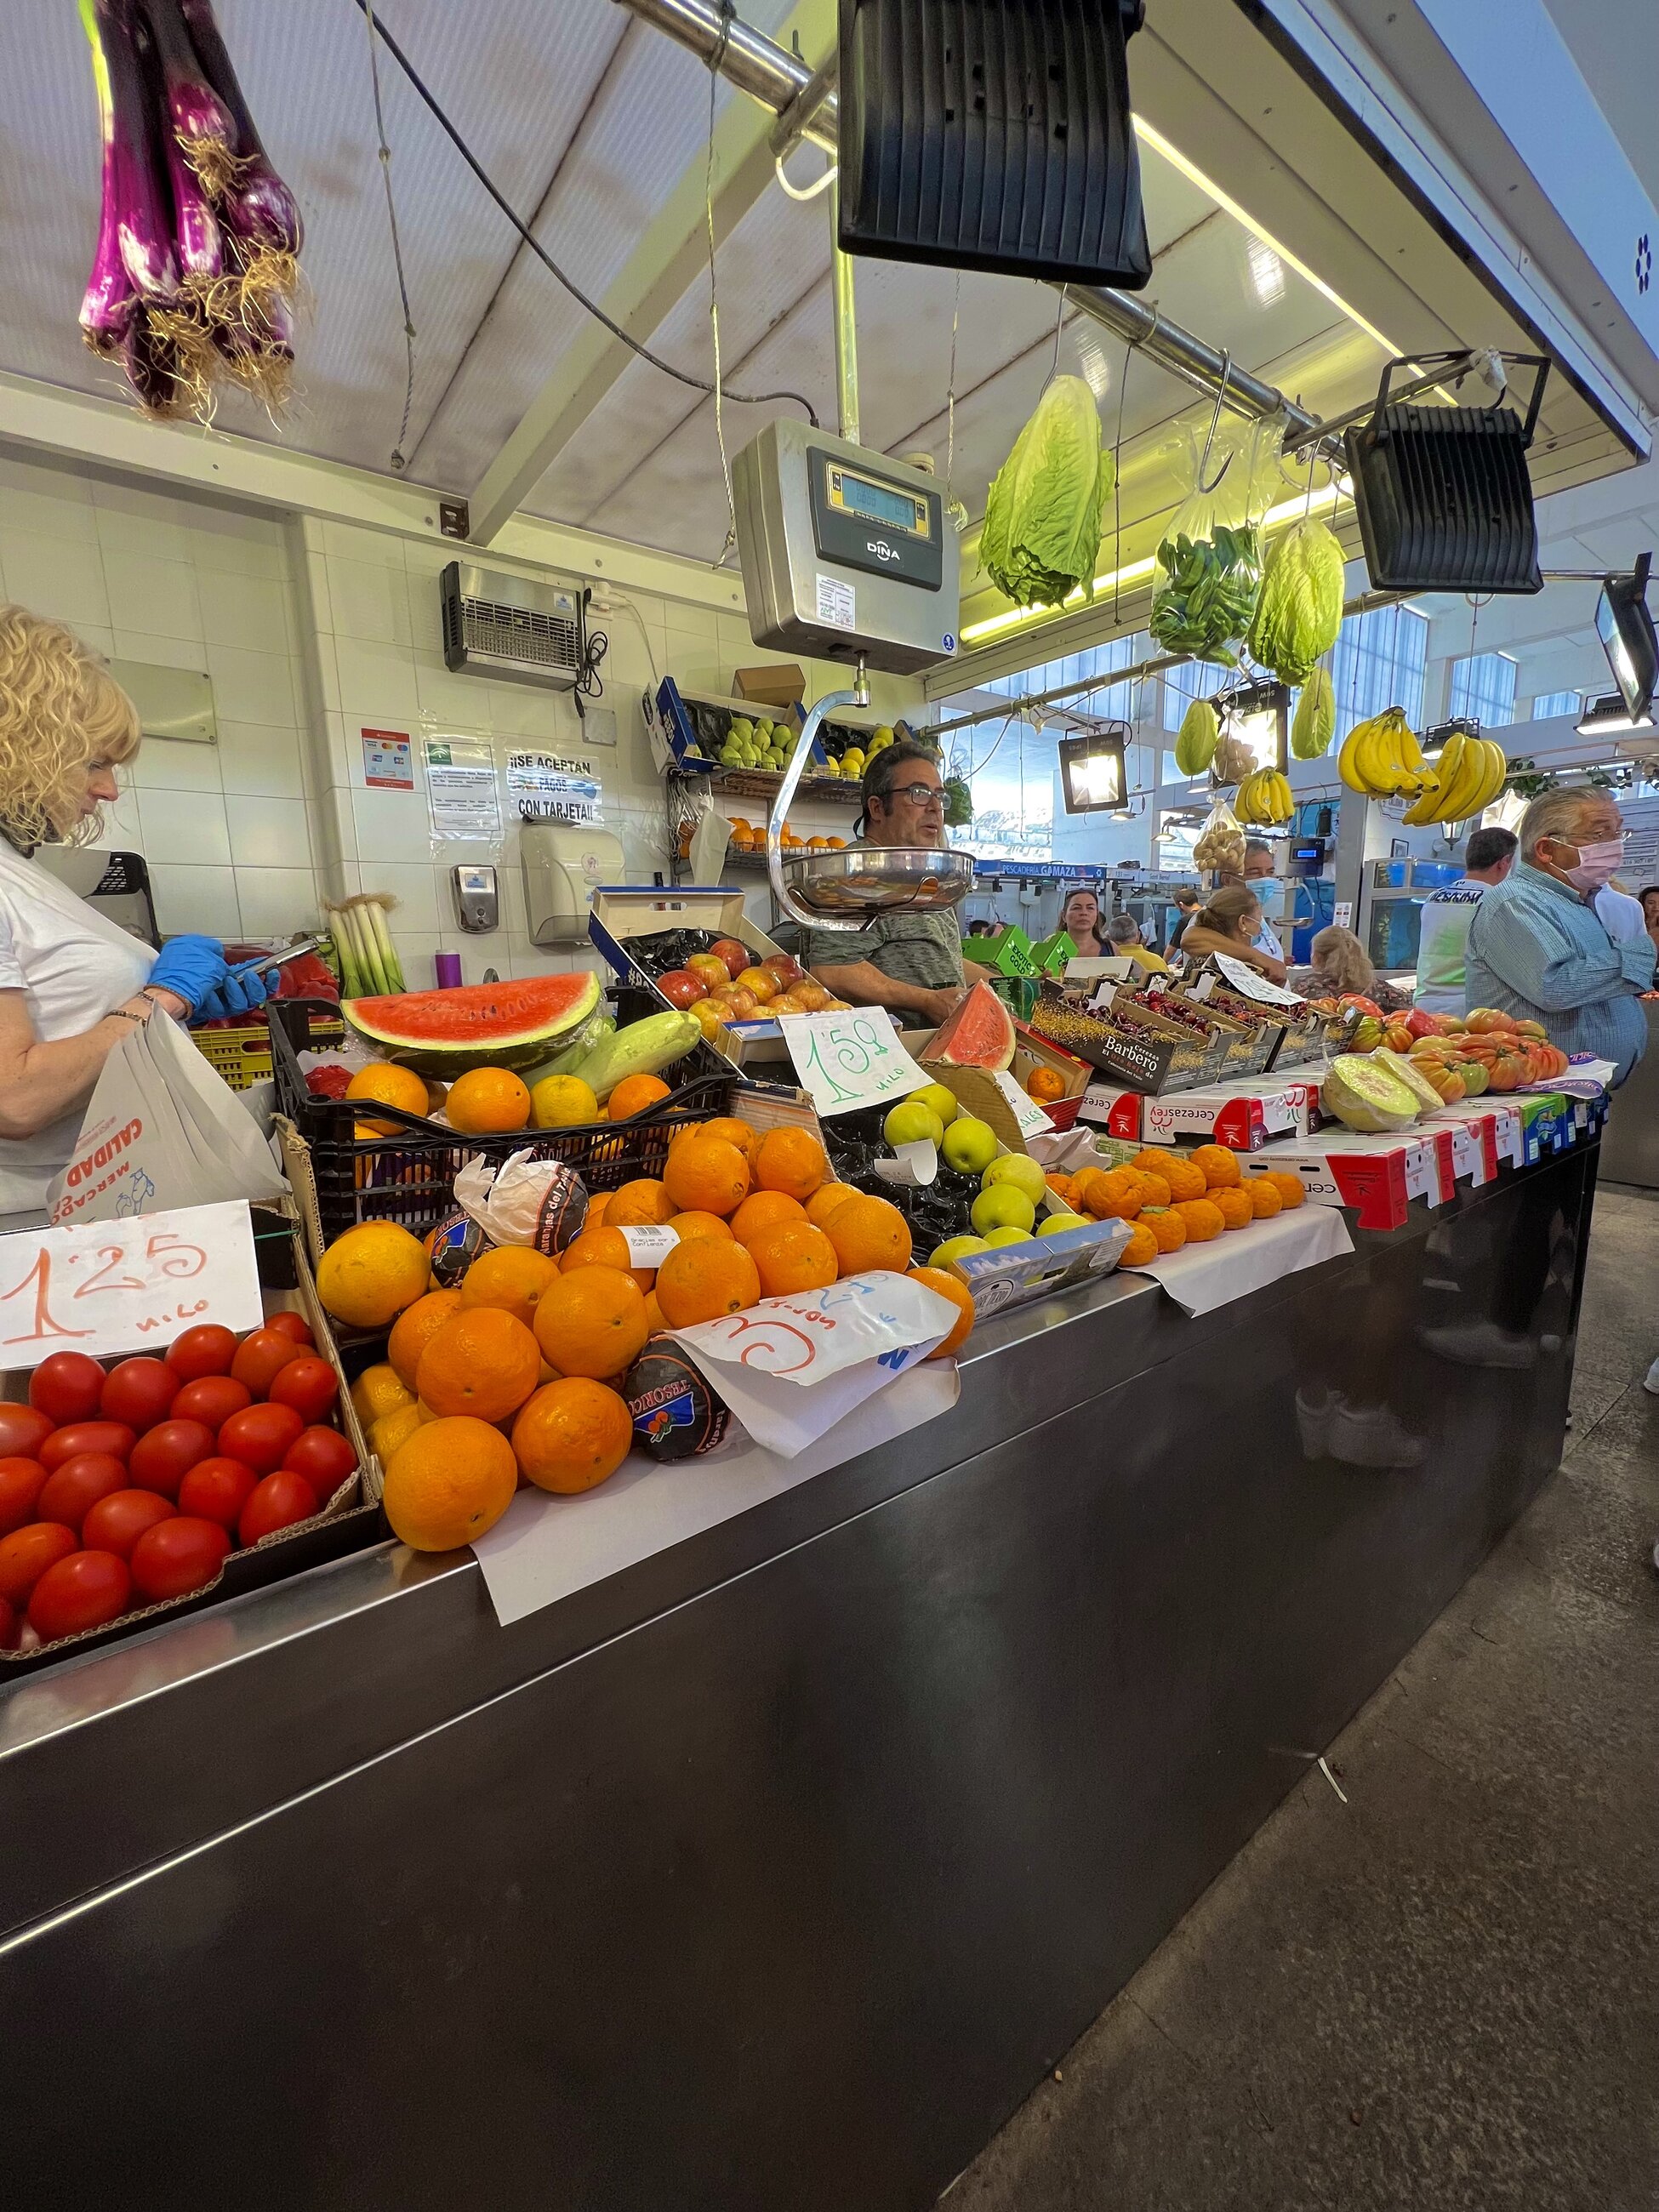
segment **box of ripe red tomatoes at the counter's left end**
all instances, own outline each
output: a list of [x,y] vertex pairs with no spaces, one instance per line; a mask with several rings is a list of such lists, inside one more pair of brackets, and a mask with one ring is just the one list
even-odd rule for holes
[[380,1467],[294,1223],[265,1321],[0,1378],[0,1688],[380,1542]]

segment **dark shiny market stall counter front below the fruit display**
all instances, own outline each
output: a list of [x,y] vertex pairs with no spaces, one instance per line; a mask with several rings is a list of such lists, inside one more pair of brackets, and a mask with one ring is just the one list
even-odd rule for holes
[[511,1628],[378,1546],[18,1683],[15,2194],[929,2205],[1555,1469],[1595,1161],[989,1318]]

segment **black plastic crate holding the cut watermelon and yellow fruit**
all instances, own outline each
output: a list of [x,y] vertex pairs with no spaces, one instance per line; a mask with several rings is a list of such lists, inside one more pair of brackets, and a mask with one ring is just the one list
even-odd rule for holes
[[[619,987],[615,993],[617,1026],[626,1029],[644,1015],[661,1013],[648,991]],[[575,1168],[588,1190],[615,1190],[637,1175],[661,1175],[668,1139],[686,1121],[734,1113],[741,1095],[765,1091],[745,1084],[717,1051],[697,1044],[681,1062],[664,1071],[670,1097],[630,1121],[593,1121],[584,1128],[522,1128],[498,1137],[460,1137],[422,1115],[396,1106],[363,1106],[349,1099],[319,1099],[305,1088],[299,1066],[301,1051],[327,1051],[312,1044],[312,1020],[336,1018],[323,1000],[288,998],[274,1002],[270,1024],[272,1068],[276,1075],[276,1110],[288,1115],[312,1152],[316,1210],[323,1241],[332,1243],[358,1221],[398,1221],[425,1234],[456,1206],[456,1175],[469,1159],[502,1161],[526,1146],[535,1159],[562,1159]],[[330,1040],[332,1042],[332,1040]],[[794,1091],[787,1093],[794,1097]],[[358,1137],[358,1119],[372,1113],[376,1121],[398,1121],[396,1137]],[[407,1135],[403,1135],[407,1130]]]

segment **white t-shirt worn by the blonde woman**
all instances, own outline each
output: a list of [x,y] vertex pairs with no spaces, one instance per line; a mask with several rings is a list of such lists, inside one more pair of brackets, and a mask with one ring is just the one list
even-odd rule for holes
[[[155,953],[0,836],[0,991],[22,991],[42,1044],[80,1037],[133,998]],[[0,1214],[35,1212],[69,1166],[86,1108],[0,1137]]]

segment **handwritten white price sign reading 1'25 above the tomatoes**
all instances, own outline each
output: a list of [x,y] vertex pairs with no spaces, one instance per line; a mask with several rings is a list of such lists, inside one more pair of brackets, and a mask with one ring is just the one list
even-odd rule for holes
[[0,1237],[0,1369],[53,1352],[166,1352],[204,1321],[237,1334],[263,1321],[239,1201]]

